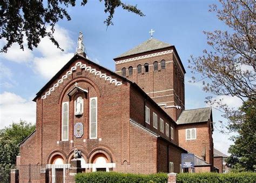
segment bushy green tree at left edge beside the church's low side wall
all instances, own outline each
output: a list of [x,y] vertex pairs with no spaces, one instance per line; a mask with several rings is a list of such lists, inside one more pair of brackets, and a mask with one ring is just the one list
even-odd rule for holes
[[15,165],[19,144],[35,131],[35,128],[35,125],[21,120],[0,130],[0,167]]

